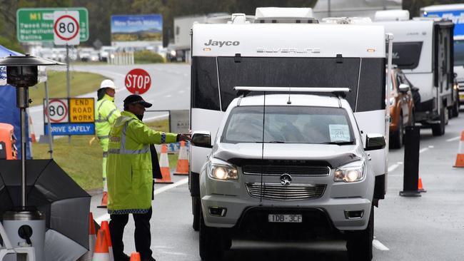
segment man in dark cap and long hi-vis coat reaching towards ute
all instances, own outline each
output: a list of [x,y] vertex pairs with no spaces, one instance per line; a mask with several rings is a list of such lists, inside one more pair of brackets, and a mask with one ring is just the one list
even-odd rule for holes
[[[124,111],[109,133],[108,148],[108,213],[114,260],[129,261],[124,254],[123,232],[132,214],[136,225],[136,250],[141,261],[154,261],[151,256],[151,200],[153,193],[153,163],[150,145],[190,140],[188,135],[153,131],[143,123],[145,108],[151,103],[138,95],[124,100]],[[156,162],[154,163],[156,164]]]

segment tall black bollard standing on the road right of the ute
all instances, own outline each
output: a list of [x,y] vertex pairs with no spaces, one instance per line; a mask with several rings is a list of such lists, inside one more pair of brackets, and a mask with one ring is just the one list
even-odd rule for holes
[[408,126],[405,131],[403,191],[400,191],[400,196],[420,197],[418,190],[420,127]]

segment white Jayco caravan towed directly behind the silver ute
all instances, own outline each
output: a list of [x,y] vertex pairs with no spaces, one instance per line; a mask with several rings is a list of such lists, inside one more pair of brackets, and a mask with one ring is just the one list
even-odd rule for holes
[[[236,86],[342,87],[351,90],[346,101],[354,112],[363,142],[366,133],[379,133],[388,144],[389,110],[385,95],[390,92],[385,93],[383,26],[350,24],[349,19],[318,24],[308,15],[310,10],[260,9],[253,23],[246,21],[244,15],[233,15],[228,24],[193,25],[193,134],[208,131],[212,144],[220,138],[216,133],[226,108],[238,97]],[[285,11],[293,15],[283,15]],[[295,11],[298,17],[292,18]],[[387,152],[388,146],[369,151],[375,172],[375,205],[385,195]],[[189,189],[195,230],[201,211],[198,177],[210,153],[211,148],[191,148]]]

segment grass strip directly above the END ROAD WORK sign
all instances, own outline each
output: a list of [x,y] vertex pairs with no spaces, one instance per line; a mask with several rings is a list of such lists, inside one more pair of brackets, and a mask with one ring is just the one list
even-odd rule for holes
[[[49,81],[50,98],[66,98],[66,71],[47,71]],[[105,79],[97,73],[84,73],[77,71],[69,72],[71,97],[96,91],[101,81]],[[44,104],[45,83],[39,83],[29,88],[29,98],[32,99],[31,106]]]

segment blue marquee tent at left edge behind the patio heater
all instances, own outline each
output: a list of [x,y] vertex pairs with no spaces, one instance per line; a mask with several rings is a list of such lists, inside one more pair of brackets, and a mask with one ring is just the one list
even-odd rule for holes
[[[11,51],[4,46],[0,46],[0,58],[6,56],[19,56],[21,53]],[[29,118],[26,115],[26,133],[29,133]],[[16,135],[16,148],[21,158],[21,118],[19,108],[16,107],[16,88],[6,84],[6,67],[0,66],[0,123],[9,123],[14,126],[14,135]],[[27,145],[26,158],[31,158],[31,149]]]

